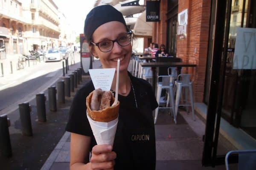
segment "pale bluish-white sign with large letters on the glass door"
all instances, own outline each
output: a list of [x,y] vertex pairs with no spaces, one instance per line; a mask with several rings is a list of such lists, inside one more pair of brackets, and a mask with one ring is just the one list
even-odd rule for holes
[[233,69],[256,69],[256,28],[237,28]]

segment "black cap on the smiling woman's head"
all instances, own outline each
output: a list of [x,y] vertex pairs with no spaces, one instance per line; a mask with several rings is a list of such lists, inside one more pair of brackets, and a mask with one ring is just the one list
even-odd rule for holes
[[93,32],[99,26],[111,21],[119,21],[127,27],[122,13],[117,11],[116,8],[111,5],[96,6],[86,16],[84,21],[84,36],[87,40],[90,40]]

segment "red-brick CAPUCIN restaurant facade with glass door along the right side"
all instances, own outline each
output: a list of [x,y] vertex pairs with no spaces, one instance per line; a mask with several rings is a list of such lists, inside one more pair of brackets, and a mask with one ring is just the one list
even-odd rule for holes
[[[204,165],[210,164],[212,155],[226,154],[218,151],[218,139],[227,139],[229,149],[256,148],[253,8],[253,0],[160,1],[160,21],[153,24],[151,41],[165,44],[183,62],[197,65],[183,68],[183,72],[193,74],[195,108],[199,115],[205,113]],[[236,46],[237,41],[244,44]],[[249,46],[251,52],[246,50]]]

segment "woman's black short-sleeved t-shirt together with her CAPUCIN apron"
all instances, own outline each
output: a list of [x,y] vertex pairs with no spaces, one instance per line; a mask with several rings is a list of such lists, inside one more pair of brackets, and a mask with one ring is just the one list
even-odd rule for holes
[[[152,111],[158,107],[158,104],[152,87],[147,81],[133,77],[130,73],[129,76],[133,88],[131,87],[128,96],[118,96],[119,121],[113,144],[113,151],[117,155],[115,170],[147,167],[145,164],[148,163],[145,161],[151,161],[148,168],[153,170],[156,160]],[[90,150],[96,145],[96,141],[86,116],[86,97],[93,90],[94,86],[90,81],[76,93],[66,127],[69,132],[90,136],[92,139]],[[147,140],[149,138],[150,141]],[[146,154],[150,155],[147,159]],[[140,163],[138,165],[134,162]]]

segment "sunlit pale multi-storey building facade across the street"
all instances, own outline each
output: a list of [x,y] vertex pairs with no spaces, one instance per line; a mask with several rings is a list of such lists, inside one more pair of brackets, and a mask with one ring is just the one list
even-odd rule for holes
[[[0,0],[0,43],[6,54],[28,54],[66,44],[74,36],[66,30],[61,34],[60,22],[53,0]],[[63,18],[61,26],[67,26]]]

